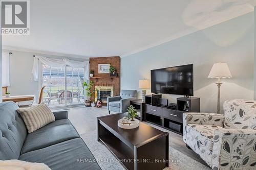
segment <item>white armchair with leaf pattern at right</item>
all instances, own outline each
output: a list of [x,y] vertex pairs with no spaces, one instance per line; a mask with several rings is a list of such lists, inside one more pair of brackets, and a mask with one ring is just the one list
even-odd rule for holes
[[256,169],[256,101],[223,107],[225,115],[184,113],[184,142],[214,170]]

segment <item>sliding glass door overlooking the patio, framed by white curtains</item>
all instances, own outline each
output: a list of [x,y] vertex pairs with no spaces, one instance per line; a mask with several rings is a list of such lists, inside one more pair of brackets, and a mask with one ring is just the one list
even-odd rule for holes
[[42,65],[43,102],[50,107],[82,104],[84,69]]

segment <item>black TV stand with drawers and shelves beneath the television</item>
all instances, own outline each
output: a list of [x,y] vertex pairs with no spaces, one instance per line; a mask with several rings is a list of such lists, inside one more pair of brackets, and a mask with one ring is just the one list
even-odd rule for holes
[[144,120],[148,123],[183,134],[184,112],[200,112],[200,98],[177,98],[177,107],[159,106],[156,102],[161,94],[145,95]]

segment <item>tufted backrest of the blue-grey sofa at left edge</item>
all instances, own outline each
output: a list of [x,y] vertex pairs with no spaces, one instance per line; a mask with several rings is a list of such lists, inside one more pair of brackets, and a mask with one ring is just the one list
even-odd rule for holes
[[18,159],[27,129],[14,102],[0,103],[0,160]]

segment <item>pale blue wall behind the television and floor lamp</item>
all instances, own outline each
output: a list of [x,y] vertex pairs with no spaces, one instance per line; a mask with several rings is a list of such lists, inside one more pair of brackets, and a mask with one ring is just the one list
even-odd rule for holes
[[[221,105],[228,99],[253,99],[253,16],[246,15],[121,58],[121,89],[138,89],[150,70],[194,64],[194,96],[202,112],[217,111],[217,80],[207,79],[212,65],[226,62],[233,79],[223,80]],[[148,91],[150,92],[150,90]],[[140,98],[140,93],[138,94]],[[169,103],[179,95],[164,94]],[[221,112],[223,108],[221,107]]]

